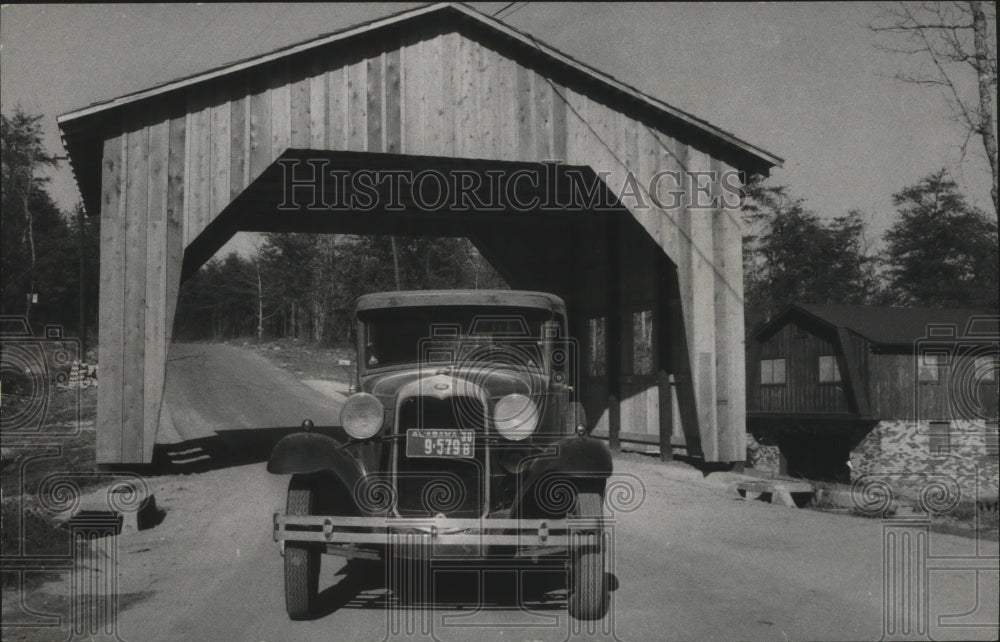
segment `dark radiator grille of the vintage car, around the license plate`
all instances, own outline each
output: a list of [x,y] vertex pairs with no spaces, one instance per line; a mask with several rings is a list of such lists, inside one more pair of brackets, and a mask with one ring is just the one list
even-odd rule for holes
[[476,431],[475,457],[407,457],[405,441],[397,441],[396,509],[402,517],[479,517],[486,507],[489,479],[486,413],[473,397],[411,397],[399,409],[400,434],[410,428]]

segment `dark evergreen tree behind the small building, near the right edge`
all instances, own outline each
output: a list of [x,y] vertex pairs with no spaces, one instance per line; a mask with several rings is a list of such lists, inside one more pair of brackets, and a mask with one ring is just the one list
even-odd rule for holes
[[900,218],[886,232],[895,303],[997,307],[997,225],[969,205],[942,169],[892,197]]

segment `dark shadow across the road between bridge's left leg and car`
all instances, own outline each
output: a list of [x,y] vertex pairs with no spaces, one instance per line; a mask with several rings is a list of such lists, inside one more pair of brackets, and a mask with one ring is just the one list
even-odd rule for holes
[[[175,444],[156,444],[153,462],[142,472],[148,475],[184,475],[267,461],[274,445],[299,426],[275,428],[234,428],[219,430],[208,437]],[[312,432],[344,441],[342,429],[316,426]]]

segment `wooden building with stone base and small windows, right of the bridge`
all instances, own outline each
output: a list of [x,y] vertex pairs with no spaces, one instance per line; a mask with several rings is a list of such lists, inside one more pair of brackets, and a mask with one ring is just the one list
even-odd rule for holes
[[791,305],[748,353],[751,448],[772,451],[762,459],[773,472],[919,483],[946,474],[995,489],[995,313]]

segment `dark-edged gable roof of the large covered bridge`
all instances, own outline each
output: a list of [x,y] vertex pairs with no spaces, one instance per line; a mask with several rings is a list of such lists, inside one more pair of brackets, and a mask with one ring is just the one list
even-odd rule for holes
[[[659,118],[669,122],[672,126],[686,128],[699,136],[705,137],[712,144],[717,145],[722,150],[728,150],[729,154],[739,159],[738,163],[734,163],[739,169],[744,169],[751,173],[767,173],[771,167],[780,167],[784,162],[781,157],[752,145],[701,118],[649,96],[604,72],[598,71],[562,53],[530,34],[518,31],[510,25],[479,13],[464,4],[444,2],[401,11],[384,18],[357,24],[305,42],[286,46],[270,53],[215,67],[198,74],[172,80],[117,98],[100,101],[63,114],[57,118],[57,123],[60,130],[62,130],[63,143],[69,153],[70,164],[74,173],[77,174],[77,183],[80,184],[80,179],[83,178],[80,172],[86,171],[86,168],[78,168],[77,166],[81,163],[86,164],[90,162],[91,159],[86,157],[92,155],[92,153],[100,153],[99,149],[95,147],[95,139],[100,138],[100,128],[109,113],[114,110],[136,105],[143,101],[167,99],[168,95],[173,97],[173,95],[188,87],[209,83],[232,74],[246,72],[249,69],[266,65],[275,60],[295,56],[333,43],[342,43],[351,39],[366,41],[378,39],[390,31],[405,29],[410,24],[417,27],[417,21],[420,21],[421,24],[430,21],[435,25],[445,25],[446,28],[454,31],[459,30],[462,25],[472,24],[479,31],[486,32],[513,45],[518,50],[519,56],[529,57],[540,65],[573,74],[574,77],[582,79],[598,91],[614,95],[619,101],[637,104],[650,109]],[[98,162],[97,164],[99,165],[100,163]],[[93,171],[87,173],[87,182],[93,181],[95,176],[99,183],[99,172],[94,174]],[[92,193],[94,189],[85,189],[82,184],[80,188],[81,192],[84,193],[84,201],[88,206],[95,205],[97,200],[96,195]],[[88,210],[90,209],[91,207],[88,207]]]

